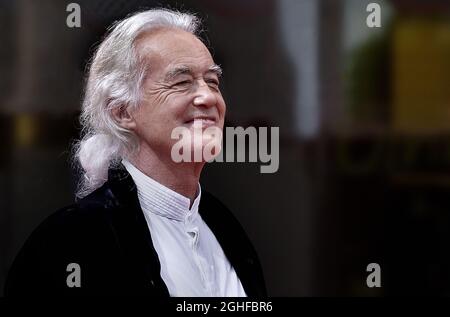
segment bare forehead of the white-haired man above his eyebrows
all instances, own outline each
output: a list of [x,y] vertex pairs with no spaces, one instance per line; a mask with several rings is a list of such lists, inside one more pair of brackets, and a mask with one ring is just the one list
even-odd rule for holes
[[203,72],[214,65],[206,46],[183,30],[165,28],[145,32],[137,39],[136,48],[154,75],[162,76],[180,66]]

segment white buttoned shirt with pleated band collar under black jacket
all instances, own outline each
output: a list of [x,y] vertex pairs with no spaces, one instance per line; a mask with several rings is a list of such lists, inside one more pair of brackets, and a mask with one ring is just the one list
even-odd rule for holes
[[123,160],[161,263],[170,296],[244,297],[244,288],[219,242],[198,213],[201,187],[189,198],[161,185]]

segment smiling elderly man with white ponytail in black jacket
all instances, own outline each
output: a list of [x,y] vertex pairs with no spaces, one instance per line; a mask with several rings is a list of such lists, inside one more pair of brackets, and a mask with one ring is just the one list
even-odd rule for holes
[[[174,129],[224,124],[221,70],[198,28],[158,9],[111,29],[87,81],[79,199],[33,232],[7,295],[266,296],[245,232],[199,185],[205,159],[172,157]],[[193,151],[217,138],[200,136]]]

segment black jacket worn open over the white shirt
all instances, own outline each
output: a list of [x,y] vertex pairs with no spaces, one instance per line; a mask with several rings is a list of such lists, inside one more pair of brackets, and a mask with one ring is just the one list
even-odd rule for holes
[[[219,241],[250,297],[265,297],[257,254],[238,221],[202,192],[199,213]],[[79,264],[81,287],[70,288],[69,263]],[[5,295],[169,296],[139,205],[124,168],[92,194],[48,217],[30,236],[9,272]]]

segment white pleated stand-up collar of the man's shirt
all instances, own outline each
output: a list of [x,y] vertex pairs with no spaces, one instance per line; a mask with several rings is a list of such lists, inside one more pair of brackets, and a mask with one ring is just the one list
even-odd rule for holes
[[191,203],[189,198],[158,183],[127,160],[122,160],[122,164],[136,184],[139,202],[144,212],[150,211],[158,216],[182,222],[190,222],[198,215],[202,194],[200,184],[197,197],[189,208]]

